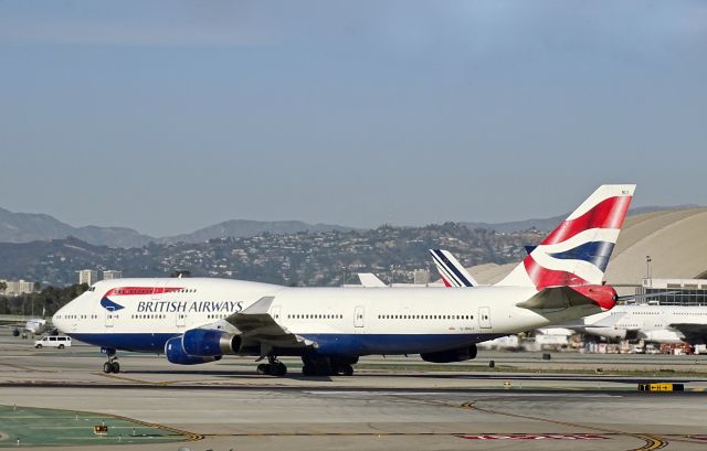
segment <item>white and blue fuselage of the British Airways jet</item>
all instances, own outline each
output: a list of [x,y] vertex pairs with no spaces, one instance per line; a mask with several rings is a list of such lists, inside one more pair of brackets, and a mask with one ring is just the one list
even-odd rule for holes
[[594,304],[544,311],[516,304],[527,287],[287,288],[225,279],[101,281],[54,315],[77,340],[113,350],[162,352],[184,331],[223,322],[263,297],[284,329],[316,341],[320,352],[416,354],[471,345],[499,335],[571,321]]

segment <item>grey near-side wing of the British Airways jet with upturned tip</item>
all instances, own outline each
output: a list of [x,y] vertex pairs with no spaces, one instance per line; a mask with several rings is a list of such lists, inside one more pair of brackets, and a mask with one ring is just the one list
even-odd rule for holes
[[315,347],[316,343],[289,332],[270,314],[275,297],[258,299],[253,305],[225,319],[241,332],[243,340],[271,347]]

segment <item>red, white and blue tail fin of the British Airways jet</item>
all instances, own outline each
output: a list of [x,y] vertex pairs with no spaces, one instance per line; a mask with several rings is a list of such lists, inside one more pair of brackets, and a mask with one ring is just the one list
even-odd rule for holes
[[496,284],[600,284],[636,185],[601,185]]

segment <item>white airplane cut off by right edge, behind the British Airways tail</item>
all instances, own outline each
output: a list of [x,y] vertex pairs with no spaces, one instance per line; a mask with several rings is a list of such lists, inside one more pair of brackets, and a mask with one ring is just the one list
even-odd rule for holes
[[619,305],[573,326],[585,334],[651,343],[707,344],[706,305]]

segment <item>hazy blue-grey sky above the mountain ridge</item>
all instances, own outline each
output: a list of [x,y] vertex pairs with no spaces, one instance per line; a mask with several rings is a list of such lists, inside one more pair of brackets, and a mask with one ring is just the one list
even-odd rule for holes
[[707,204],[705,1],[0,1],[0,206],[168,235]]

